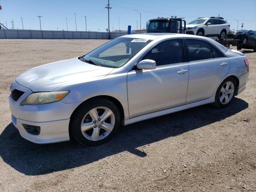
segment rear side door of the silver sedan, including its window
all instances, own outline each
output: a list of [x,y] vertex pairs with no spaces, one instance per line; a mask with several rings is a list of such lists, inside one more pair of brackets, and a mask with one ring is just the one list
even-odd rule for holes
[[187,39],[190,69],[186,104],[208,99],[228,74],[229,59],[209,42]]

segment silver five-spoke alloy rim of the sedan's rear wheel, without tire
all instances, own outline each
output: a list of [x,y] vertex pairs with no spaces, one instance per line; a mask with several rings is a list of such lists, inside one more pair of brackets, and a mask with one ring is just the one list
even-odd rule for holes
[[234,95],[234,84],[231,81],[226,82],[220,89],[220,102],[228,104]]

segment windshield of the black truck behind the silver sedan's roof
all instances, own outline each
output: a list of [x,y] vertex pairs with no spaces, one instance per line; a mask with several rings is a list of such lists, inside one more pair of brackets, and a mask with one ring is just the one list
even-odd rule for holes
[[166,21],[150,21],[147,26],[147,33],[155,33],[155,32],[161,32],[161,33],[168,33],[169,28],[169,22]]

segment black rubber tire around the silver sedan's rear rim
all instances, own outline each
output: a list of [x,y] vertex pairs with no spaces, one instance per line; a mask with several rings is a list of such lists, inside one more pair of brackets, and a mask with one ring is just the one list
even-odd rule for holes
[[[233,94],[232,98],[229,100],[229,102],[228,102],[227,104],[222,104],[222,103],[220,102],[220,94],[221,94],[220,90],[221,90],[222,86],[223,86],[224,84],[226,84],[226,82],[228,82],[228,81],[232,82],[233,85],[234,85],[234,94]],[[236,93],[236,81],[234,80],[234,78],[228,77],[228,78],[226,78],[226,79],[220,84],[220,86],[218,87],[218,89],[217,89],[217,91],[216,91],[216,95],[215,95],[215,102],[212,103],[212,105],[215,106],[215,107],[218,107],[218,108],[227,107],[228,105],[230,105],[230,103],[231,103],[232,100],[234,99],[235,93]]]

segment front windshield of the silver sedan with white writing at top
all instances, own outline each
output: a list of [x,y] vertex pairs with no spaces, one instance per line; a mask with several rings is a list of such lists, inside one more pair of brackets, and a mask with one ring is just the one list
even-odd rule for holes
[[126,64],[152,40],[120,37],[103,44],[80,60],[98,66],[118,68]]

